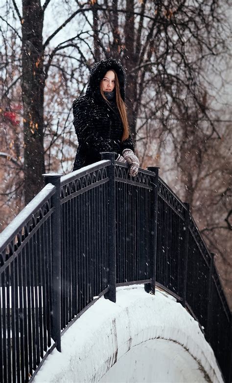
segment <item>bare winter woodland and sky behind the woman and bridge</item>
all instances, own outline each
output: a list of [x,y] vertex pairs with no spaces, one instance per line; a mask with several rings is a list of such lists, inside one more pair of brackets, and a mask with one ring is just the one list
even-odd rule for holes
[[140,166],[190,203],[230,298],[230,12],[229,0],[1,0],[0,231],[43,173],[72,171],[72,102],[94,62],[115,58]]

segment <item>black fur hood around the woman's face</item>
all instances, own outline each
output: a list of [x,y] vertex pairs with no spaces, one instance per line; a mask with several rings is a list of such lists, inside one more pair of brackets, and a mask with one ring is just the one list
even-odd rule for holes
[[101,60],[98,63],[95,63],[90,72],[90,81],[86,90],[86,95],[95,98],[95,100],[100,100],[100,82],[103,79],[106,72],[110,69],[116,71],[117,78],[120,86],[121,98],[125,101],[125,81],[126,74],[122,65],[115,59]]

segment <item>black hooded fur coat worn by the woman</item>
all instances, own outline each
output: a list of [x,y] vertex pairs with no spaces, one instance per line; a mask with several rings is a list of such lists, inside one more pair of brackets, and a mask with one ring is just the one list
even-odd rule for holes
[[121,142],[123,126],[116,101],[107,103],[100,93],[100,81],[110,69],[116,71],[121,97],[125,99],[125,72],[121,64],[113,59],[94,64],[86,94],[73,102],[73,125],[78,139],[73,170],[99,161],[100,152],[122,154],[127,148],[134,151],[131,135]]

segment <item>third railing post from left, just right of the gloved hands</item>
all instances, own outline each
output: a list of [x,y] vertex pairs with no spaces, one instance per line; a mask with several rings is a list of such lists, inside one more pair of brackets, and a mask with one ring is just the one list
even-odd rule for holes
[[159,167],[149,166],[147,170],[154,173],[152,180],[152,197],[151,197],[151,231],[150,231],[150,275],[151,283],[144,285],[147,293],[155,294],[156,291],[156,253],[157,253],[157,222],[158,222],[158,182]]

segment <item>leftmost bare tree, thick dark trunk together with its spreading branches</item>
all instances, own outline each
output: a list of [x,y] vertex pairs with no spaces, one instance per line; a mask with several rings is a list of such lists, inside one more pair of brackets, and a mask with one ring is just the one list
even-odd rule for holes
[[[13,0],[12,4],[6,4],[6,8],[8,8],[5,10],[6,16],[1,17],[7,25],[7,33],[9,28],[17,33],[17,43],[20,45],[17,61],[23,101],[23,189],[25,203],[28,203],[44,185],[42,178],[42,174],[45,173],[44,96],[46,80],[54,56],[71,47],[76,48],[79,55],[82,55],[79,49],[78,34],[65,41],[61,40],[55,47],[50,47],[50,42],[80,11],[82,13],[91,11],[89,6],[85,9],[75,6],[74,9],[72,7],[72,10],[67,6],[66,20],[44,39],[44,17],[50,2],[52,3],[52,1],[46,0],[42,5],[40,0],[22,0],[21,11]],[[11,6],[14,8],[12,19],[18,18],[21,23],[21,33],[18,33],[17,28],[7,20],[7,15],[10,11],[12,12]],[[7,39],[7,33],[6,35],[2,34],[3,41]],[[82,31],[80,30],[80,39],[81,34]],[[8,58],[8,52],[5,52],[5,57]]]

